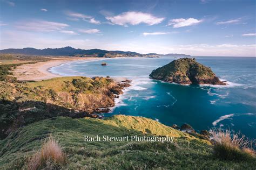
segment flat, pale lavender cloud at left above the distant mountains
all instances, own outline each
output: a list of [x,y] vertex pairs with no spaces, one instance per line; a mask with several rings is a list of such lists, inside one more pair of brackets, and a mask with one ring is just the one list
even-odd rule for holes
[[45,20],[33,20],[31,22],[19,22],[17,28],[26,31],[50,32],[62,30],[68,27],[68,24],[48,22]]

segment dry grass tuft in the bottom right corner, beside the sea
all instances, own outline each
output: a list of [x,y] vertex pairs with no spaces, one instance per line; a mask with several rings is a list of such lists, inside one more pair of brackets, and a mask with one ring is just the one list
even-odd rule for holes
[[224,160],[248,160],[255,158],[255,151],[250,148],[250,144],[253,142],[244,135],[222,129],[213,129],[210,133],[214,140],[214,155],[217,158]]

